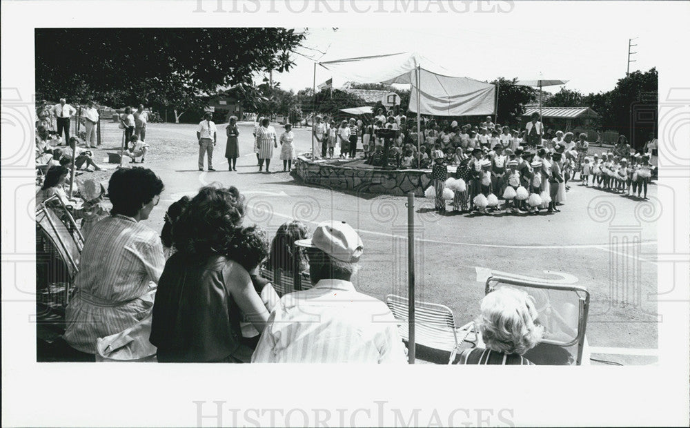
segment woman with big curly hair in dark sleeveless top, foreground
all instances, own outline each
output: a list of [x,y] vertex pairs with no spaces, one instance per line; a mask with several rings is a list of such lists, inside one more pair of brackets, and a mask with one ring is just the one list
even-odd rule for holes
[[264,330],[268,311],[237,254],[245,215],[234,186],[206,186],[172,226],[177,252],[159,281],[150,342],[159,362],[248,362],[242,315]]

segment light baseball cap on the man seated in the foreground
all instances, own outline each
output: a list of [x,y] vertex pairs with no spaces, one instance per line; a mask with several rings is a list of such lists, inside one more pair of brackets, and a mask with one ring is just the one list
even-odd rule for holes
[[336,260],[348,263],[357,262],[364,249],[362,240],[352,226],[334,220],[319,223],[311,239],[295,241],[295,245],[319,249]]

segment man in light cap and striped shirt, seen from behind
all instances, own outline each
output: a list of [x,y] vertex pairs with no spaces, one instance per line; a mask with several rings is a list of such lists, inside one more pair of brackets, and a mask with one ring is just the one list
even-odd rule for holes
[[404,364],[393,314],[350,281],[363,249],[357,232],[345,222],[322,222],[295,244],[306,247],[314,287],[278,302],[252,362]]

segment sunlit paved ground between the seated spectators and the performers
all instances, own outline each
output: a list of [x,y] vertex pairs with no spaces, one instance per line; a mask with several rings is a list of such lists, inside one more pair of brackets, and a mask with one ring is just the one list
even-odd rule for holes
[[[179,150],[174,159],[148,164],[166,184],[150,226],[159,229],[167,206],[195,194],[199,186],[232,184],[248,198],[247,222],[266,227],[269,235],[292,218],[310,227],[328,219],[352,224],[365,245],[355,285],[382,299],[390,293],[406,295],[406,198],[302,186],[282,172],[259,174],[251,131],[250,125],[240,125],[242,157],[236,173],[227,171],[222,157],[224,138],[215,156],[218,171],[201,173],[194,126],[150,124],[148,142],[154,150],[167,139],[190,140],[189,149]],[[308,130],[295,130],[295,137],[298,152],[310,150]],[[273,171],[282,171],[278,152]],[[591,292],[587,337],[595,351],[603,352],[595,357],[624,364],[655,362],[655,186],[649,196],[651,202],[640,202],[575,182],[561,213],[538,216],[440,217],[430,210],[431,201],[417,200],[417,299],[445,304],[456,323],[464,324],[477,315],[490,272],[579,284]]]

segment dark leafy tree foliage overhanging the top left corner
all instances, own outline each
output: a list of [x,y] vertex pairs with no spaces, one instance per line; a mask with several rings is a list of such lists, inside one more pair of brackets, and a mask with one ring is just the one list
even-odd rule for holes
[[74,103],[194,110],[203,108],[200,95],[289,70],[304,37],[287,28],[40,28],[36,88]]

